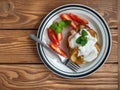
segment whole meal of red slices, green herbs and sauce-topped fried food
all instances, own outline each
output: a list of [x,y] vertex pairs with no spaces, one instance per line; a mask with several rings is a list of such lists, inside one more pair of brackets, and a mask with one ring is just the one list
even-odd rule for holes
[[48,29],[50,48],[59,55],[68,58],[66,52],[60,48],[60,42],[64,39],[63,29],[69,26],[73,28],[73,30],[69,30],[70,35],[66,41],[70,51],[70,60],[76,64],[95,60],[101,47],[98,43],[97,33],[88,26],[89,22],[73,13],[63,13],[60,18],[61,21],[53,23]]

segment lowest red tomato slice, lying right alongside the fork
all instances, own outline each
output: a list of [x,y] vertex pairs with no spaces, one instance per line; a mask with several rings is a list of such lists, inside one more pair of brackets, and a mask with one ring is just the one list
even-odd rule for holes
[[68,57],[67,54],[61,49],[59,48],[58,46],[56,46],[55,44],[53,43],[50,43],[49,45],[55,52],[57,52],[58,54],[60,54],[61,56],[63,57]]

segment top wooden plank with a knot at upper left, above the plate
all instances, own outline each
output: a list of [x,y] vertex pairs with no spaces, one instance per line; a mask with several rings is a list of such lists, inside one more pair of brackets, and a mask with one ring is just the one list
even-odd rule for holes
[[0,0],[0,29],[37,29],[51,10],[70,3],[94,8],[110,28],[117,28],[117,0]]

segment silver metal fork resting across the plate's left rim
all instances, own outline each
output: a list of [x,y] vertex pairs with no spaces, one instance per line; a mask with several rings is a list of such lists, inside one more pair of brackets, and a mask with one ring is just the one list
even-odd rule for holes
[[37,43],[39,43],[40,45],[42,45],[44,48],[46,48],[47,50],[49,50],[54,55],[56,55],[59,58],[59,61],[62,64],[66,65],[68,68],[70,68],[72,71],[77,72],[80,69],[79,65],[73,63],[69,58],[64,58],[64,57],[58,55],[47,44],[45,44],[40,39],[38,39],[34,34],[30,34],[30,38],[33,39],[34,41],[36,41]]

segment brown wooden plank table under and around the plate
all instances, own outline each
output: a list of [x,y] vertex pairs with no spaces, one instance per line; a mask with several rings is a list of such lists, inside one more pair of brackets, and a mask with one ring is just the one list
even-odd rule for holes
[[[118,90],[119,1],[0,0],[0,90]],[[85,4],[97,10],[112,34],[112,50],[107,62],[83,79],[64,79],[49,71],[37,54],[35,42],[28,37],[30,33],[37,33],[45,15],[68,3]]]

